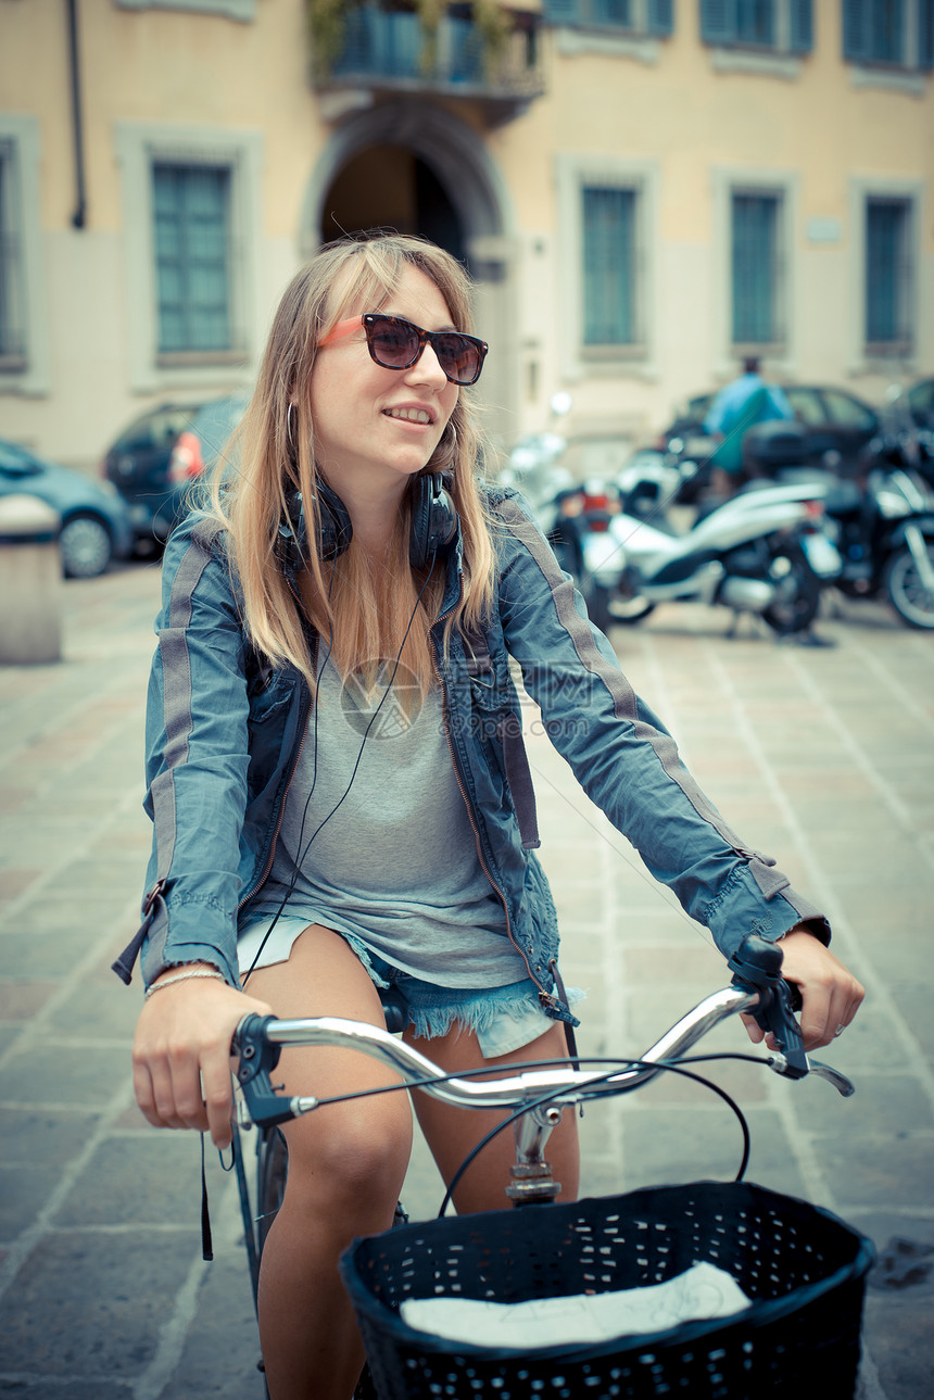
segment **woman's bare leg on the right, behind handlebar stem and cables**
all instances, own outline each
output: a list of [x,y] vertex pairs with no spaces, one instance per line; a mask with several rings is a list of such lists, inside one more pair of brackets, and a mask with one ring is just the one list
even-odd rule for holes
[[[485,1060],[476,1036],[465,1030],[451,1030],[434,1040],[405,1037],[417,1050],[434,1060],[444,1070],[487,1068],[493,1075],[506,1074],[511,1065],[524,1060],[566,1060],[567,1042],[564,1029],[557,1022],[521,1050]],[[458,1166],[480,1138],[503,1121],[504,1114],[496,1110],[476,1109],[463,1112],[430,1099],[426,1093],[413,1093],[416,1113],[426,1135],[431,1155],[444,1180],[449,1184]],[[580,1189],[580,1148],[577,1141],[577,1119],[571,1109],[564,1110],[562,1123],[548,1140],[546,1159],[555,1169],[555,1180],[562,1183],[559,1201],[573,1201]],[[454,1193],[454,1204],[459,1215],[472,1211],[499,1211],[508,1207],[504,1194],[510,1182],[510,1168],[515,1162],[513,1128],[503,1133],[483,1148],[476,1161],[465,1172]]]

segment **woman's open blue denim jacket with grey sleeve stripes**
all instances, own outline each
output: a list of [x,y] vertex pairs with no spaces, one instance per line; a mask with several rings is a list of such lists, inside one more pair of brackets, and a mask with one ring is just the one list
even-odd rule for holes
[[[773,860],[730,830],[699,790],[671,735],[588,622],[522,498],[490,489],[487,508],[497,556],[496,603],[485,626],[489,659],[478,666],[471,638],[456,629],[447,654],[442,644],[444,619],[461,596],[459,540],[447,557],[431,640],[480,862],[545,1011],[576,1023],[555,977],[557,920],[534,850],[515,666],[584,791],[724,955],[751,932],[776,939],[802,920],[829,941],[825,917]],[[143,924],[113,970],[129,983],[143,949],[147,983],[168,966],[197,960],[237,986],[237,921],[272,868],[311,694],[293,668],[272,668],[251,645],[223,532],[202,517],[190,517],[168,542],[155,630],[144,804],[154,844]]]

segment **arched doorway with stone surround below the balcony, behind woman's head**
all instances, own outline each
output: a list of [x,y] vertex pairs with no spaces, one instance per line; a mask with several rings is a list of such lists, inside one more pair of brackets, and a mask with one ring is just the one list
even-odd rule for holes
[[476,326],[490,343],[480,379],[485,423],[518,431],[515,238],[511,199],[482,137],[417,99],[374,105],[333,132],[308,185],[301,248],[364,228],[421,234],[447,248],[476,284]]

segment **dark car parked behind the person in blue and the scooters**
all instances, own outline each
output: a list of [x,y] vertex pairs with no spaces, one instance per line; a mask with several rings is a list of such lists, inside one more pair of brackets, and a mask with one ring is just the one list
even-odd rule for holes
[[[807,431],[808,462],[830,468],[840,476],[856,475],[865,448],[881,431],[877,410],[847,389],[811,384],[786,384],[783,389]],[[668,449],[672,440],[678,440],[682,447],[676,455],[686,452],[693,459],[709,455],[704,419],[713,400],[713,393],[689,399],[685,410],[661,434],[658,445]]]

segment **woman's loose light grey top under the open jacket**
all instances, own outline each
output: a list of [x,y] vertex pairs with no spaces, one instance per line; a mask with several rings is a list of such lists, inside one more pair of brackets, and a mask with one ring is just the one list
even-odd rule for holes
[[367,696],[323,664],[272,872],[249,917],[286,899],[287,914],[350,934],[440,987],[520,981],[528,969],[480,865],[440,692],[420,701],[403,666],[386,692],[391,675],[386,665]]

